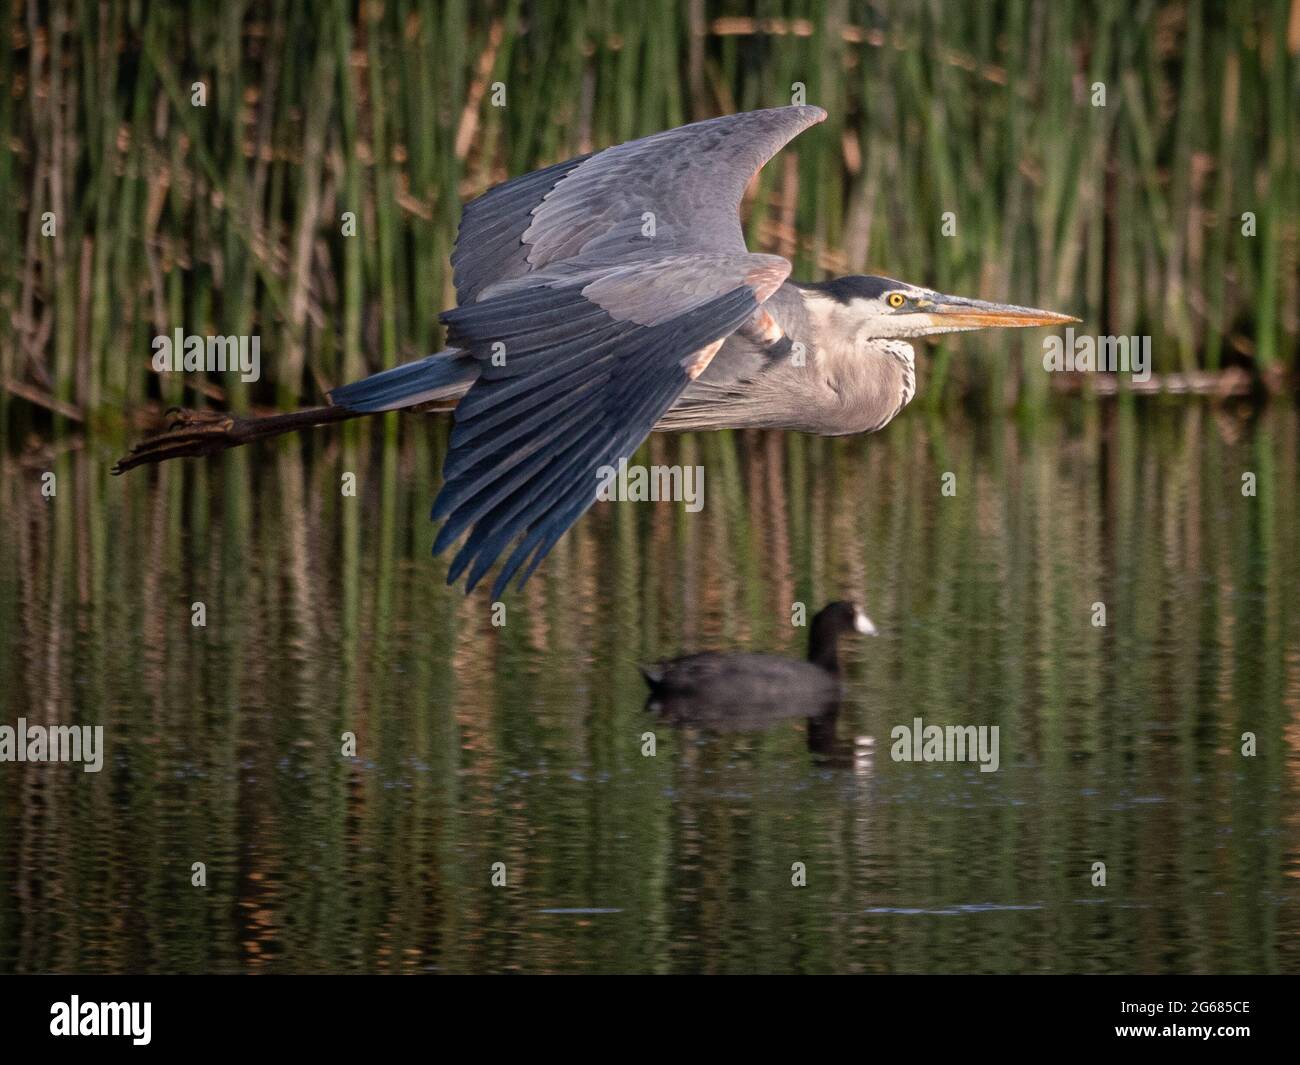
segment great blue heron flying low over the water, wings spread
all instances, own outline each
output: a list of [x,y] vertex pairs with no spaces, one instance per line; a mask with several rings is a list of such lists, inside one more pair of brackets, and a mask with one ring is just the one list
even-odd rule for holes
[[242,420],[181,412],[117,472],[363,414],[455,404],[433,506],[447,573],[520,585],[653,429],[883,428],[915,393],[910,337],[1076,321],[887,277],[789,281],[745,246],[740,203],[826,118],[711,118],[515,178],[465,205],[443,351],[334,389],[330,406]]

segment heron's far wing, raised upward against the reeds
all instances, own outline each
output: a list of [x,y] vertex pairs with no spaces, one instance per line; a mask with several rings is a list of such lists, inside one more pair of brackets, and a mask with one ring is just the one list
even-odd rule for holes
[[826,118],[783,107],[710,118],[537,170],[465,205],[451,254],[464,306],[558,264],[686,252],[744,255],[750,178]]

